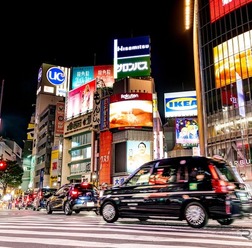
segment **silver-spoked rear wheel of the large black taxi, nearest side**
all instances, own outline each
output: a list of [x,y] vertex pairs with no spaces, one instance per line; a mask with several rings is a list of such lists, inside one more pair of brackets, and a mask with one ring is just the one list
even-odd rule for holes
[[191,202],[185,207],[185,219],[189,226],[201,228],[208,223],[208,214],[205,208],[198,202]]

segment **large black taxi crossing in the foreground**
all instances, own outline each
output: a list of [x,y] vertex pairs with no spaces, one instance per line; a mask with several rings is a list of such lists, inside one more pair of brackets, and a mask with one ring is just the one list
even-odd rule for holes
[[202,228],[209,219],[230,225],[251,212],[242,179],[226,162],[202,156],[150,161],[122,185],[100,193],[100,214],[108,223],[118,218],[186,220]]

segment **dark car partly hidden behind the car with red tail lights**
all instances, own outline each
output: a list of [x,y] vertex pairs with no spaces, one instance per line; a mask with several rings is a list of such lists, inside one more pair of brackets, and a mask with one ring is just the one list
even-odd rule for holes
[[39,211],[46,208],[47,199],[57,191],[56,188],[43,187],[38,189],[37,194],[33,200],[33,210]]

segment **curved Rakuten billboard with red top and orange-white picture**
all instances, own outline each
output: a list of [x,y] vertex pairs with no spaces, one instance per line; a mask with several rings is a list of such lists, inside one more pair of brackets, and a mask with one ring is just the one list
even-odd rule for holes
[[153,127],[151,93],[125,93],[110,96],[109,128]]

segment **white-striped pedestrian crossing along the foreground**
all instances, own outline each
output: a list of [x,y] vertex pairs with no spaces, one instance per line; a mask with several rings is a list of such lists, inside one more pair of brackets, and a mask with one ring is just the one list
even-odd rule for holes
[[[33,216],[34,217],[34,216]],[[152,225],[127,225],[120,222],[101,224],[96,221],[61,222],[59,219],[13,217],[11,221],[1,222],[1,242],[34,243],[58,246],[110,247],[118,248],[197,248],[204,244],[228,247],[252,247],[251,240],[245,239],[238,231],[205,232],[188,227],[160,227]],[[11,234],[15,234],[12,235]],[[200,245],[199,245],[200,244]],[[9,248],[0,246],[0,248]],[[10,246],[11,247],[11,246]]]

